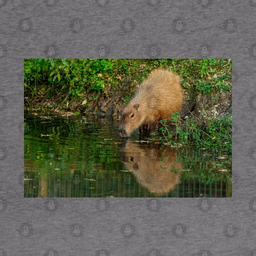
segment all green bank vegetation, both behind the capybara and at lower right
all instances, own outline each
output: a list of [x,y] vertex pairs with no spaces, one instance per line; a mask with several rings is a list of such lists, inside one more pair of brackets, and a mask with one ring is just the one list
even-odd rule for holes
[[[119,97],[117,104],[123,104],[148,73],[160,66],[181,76],[187,95],[184,101],[192,111],[182,122],[178,115],[173,116],[176,142],[231,153],[231,105],[226,115],[218,118],[207,117],[207,111],[201,111],[199,118],[191,107],[197,95],[209,94],[209,99],[217,102],[216,91],[232,90],[231,59],[25,59],[24,107],[79,113],[97,106],[100,96],[111,97],[113,91]],[[174,132],[169,132],[164,120],[162,126],[162,142],[174,144]]]

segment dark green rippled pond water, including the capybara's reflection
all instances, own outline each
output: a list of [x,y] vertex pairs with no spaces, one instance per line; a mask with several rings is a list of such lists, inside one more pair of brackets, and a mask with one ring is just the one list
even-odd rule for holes
[[231,157],[121,139],[112,117],[26,115],[24,132],[24,197],[232,196]]

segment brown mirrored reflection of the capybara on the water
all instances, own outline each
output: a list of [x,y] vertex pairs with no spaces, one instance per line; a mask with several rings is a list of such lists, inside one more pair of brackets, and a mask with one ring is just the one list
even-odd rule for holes
[[176,187],[182,165],[176,161],[177,149],[159,148],[128,142],[121,148],[121,161],[143,187],[162,194]]

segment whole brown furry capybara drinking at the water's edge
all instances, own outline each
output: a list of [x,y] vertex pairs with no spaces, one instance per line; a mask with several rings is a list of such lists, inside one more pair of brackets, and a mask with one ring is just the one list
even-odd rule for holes
[[141,133],[147,128],[149,133],[154,132],[158,121],[170,119],[170,115],[180,111],[181,104],[180,77],[167,69],[156,69],[124,108],[118,129],[121,137],[129,137],[137,128]]

